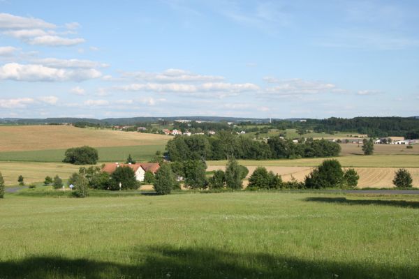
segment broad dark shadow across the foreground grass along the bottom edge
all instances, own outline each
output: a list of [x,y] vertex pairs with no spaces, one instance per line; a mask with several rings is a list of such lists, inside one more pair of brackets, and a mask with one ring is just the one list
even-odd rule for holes
[[419,274],[418,265],[325,262],[166,246],[135,249],[130,262],[28,257],[0,262],[0,278],[417,278]]

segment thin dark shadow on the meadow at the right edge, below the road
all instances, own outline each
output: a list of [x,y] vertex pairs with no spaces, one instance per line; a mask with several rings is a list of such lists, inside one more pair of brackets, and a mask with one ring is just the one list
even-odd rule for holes
[[350,205],[385,205],[397,207],[409,207],[419,209],[419,202],[405,200],[385,200],[385,199],[346,199],[346,197],[307,197],[306,202],[328,202],[332,204]]

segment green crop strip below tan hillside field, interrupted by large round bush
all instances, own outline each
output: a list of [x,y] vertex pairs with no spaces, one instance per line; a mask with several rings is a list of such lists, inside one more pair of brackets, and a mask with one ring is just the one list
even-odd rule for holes
[[[99,162],[126,160],[129,154],[134,160],[147,162],[153,158],[156,151],[163,152],[165,145],[96,147],[96,149]],[[66,149],[0,152],[0,161],[61,162],[65,152]]]

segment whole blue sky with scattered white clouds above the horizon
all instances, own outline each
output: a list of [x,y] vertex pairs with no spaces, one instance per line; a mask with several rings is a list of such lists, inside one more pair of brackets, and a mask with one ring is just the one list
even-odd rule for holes
[[418,11],[0,0],[0,117],[419,115]]

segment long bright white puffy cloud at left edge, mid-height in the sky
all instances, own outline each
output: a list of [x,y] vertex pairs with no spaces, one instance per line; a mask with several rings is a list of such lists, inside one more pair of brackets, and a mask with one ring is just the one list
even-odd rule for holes
[[101,77],[95,69],[65,70],[38,64],[7,63],[0,67],[0,80],[27,82],[82,81]]

